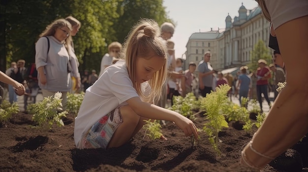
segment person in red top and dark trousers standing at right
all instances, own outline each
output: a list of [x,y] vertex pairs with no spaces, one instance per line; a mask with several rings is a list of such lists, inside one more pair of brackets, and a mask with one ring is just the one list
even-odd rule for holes
[[262,93],[264,98],[269,103],[271,107],[271,102],[267,92],[268,88],[268,79],[271,77],[271,72],[266,66],[267,62],[264,59],[258,60],[259,68],[257,69],[257,97],[260,104],[261,112],[262,110]]

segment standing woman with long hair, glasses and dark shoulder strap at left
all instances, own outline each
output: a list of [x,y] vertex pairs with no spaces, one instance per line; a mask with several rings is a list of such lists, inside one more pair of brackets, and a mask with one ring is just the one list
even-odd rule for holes
[[67,102],[66,94],[71,89],[69,66],[72,64],[68,64],[70,61],[67,51],[71,46],[71,30],[72,26],[68,21],[58,19],[46,27],[35,44],[38,86],[42,89],[44,98],[62,92],[63,110]]

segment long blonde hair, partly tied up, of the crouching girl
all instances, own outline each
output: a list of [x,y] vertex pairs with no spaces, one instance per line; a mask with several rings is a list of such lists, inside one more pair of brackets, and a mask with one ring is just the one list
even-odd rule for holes
[[[162,88],[167,77],[167,47],[160,35],[160,28],[154,20],[141,19],[129,32],[120,53],[120,58],[126,61],[133,87],[146,102],[154,102],[154,99],[162,97]],[[135,80],[136,59],[150,59],[153,55],[163,58],[165,63],[149,81],[152,90],[150,95],[146,96],[142,94],[140,84]]]

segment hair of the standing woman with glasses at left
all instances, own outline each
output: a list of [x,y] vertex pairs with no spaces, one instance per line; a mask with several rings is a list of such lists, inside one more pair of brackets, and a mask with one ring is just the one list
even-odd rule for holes
[[[65,19],[58,19],[55,20],[53,23],[48,25],[46,29],[39,35],[39,37],[44,37],[44,36],[54,36],[56,33],[57,28],[62,28],[62,27],[67,27],[70,31],[72,31],[72,25],[66,21]],[[64,40],[64,44],[66,49],[69,49],[71,47],[71,35]]]

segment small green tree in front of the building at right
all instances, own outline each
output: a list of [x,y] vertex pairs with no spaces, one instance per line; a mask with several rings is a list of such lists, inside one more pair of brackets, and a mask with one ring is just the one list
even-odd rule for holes
[[262,40],[259,40],[251,51],[251,63],[247,65],[251,71],[257,70],[259,59],[266,60],[268,64],[272,63],[272,55]]

